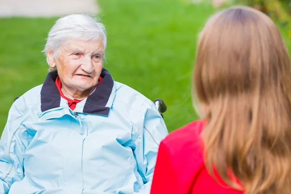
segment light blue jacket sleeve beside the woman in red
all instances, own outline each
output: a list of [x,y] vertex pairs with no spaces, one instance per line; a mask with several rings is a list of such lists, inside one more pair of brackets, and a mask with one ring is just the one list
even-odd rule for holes
[[135,141],[134,155],[138,172],[143,179],[144,185],[137,193],[149,194],[159,144],[168,134],[168,131],[161,114],[153,102],[146,100],[142,108],[145,110],[144,119]]

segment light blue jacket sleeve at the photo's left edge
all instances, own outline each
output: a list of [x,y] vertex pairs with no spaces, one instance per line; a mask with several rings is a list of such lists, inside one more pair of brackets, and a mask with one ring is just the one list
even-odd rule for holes
[[16,100],[0,139],[0,194],[8,194],[11,185],[24,177],[24,145],[18,136],[23,115],[24,111]]

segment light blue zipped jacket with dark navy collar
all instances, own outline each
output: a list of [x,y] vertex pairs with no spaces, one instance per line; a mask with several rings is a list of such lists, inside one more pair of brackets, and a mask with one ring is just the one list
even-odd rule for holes
[[102,70],[74,111],[57,72],[12,105],[0,139],[0,194],[149,194],[160,141],[154,103]]

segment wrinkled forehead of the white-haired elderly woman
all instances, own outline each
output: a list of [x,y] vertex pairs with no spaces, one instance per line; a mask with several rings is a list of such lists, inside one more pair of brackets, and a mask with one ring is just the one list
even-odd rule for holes
[[65,42],[64,51],[79,50],[83,52],[96,52],[103,51],[102,39],[97,40],[80,40],[80,39],[69,39]]

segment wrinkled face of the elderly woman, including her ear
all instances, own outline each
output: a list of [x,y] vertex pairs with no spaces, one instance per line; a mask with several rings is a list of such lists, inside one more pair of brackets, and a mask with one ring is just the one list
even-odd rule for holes
[[49,65],[57,67],[63,87],[69,90],[84,91],[98,83],[103,67],[104,49],[102,39],[69,40],[59,48],[56,58],[48,55]]

